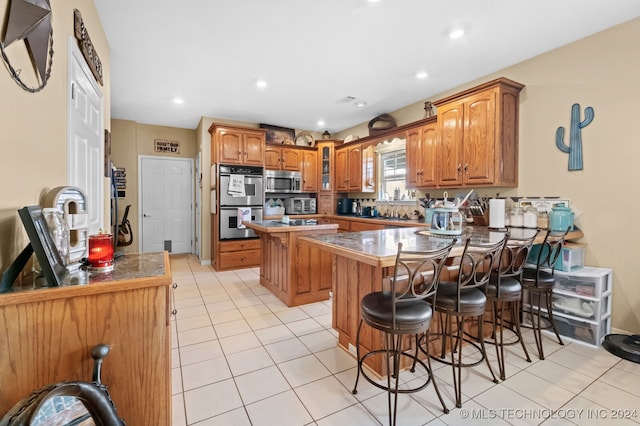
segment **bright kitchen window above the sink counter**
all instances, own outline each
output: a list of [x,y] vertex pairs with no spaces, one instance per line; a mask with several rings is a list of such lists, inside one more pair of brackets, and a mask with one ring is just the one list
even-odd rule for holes
[[406,194],[407,154],[406,141],[395,138],[380,143],[376,147],[378,154],[378,199],[393,200],[394,191],[400,196]]

